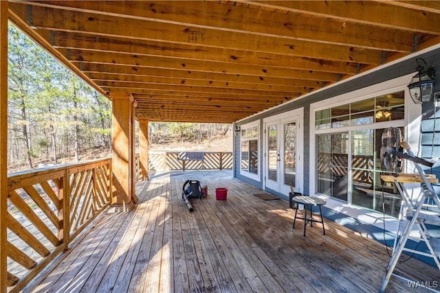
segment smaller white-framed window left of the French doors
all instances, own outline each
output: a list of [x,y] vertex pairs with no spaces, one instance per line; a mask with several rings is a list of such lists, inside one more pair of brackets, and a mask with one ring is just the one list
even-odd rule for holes
[[259,174],[259,126],[241,126],[241,174],[258,178]]

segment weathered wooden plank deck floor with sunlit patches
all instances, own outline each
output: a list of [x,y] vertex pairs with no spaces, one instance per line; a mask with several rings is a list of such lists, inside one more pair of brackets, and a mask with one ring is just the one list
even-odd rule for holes
[[[286,200],[256,198],[264,191],[231,174],[168,172],[138,183],[135,209],[104,213],[34,291],[377,292],[389,259],[383,245],[329,220],[327,235],[314,224],[303,237]],[[208,185],[192,213],[181,200],[188,178]],[[217,201],[215,187],[227,187],[228,200]],[[440,281],[416,259],[395,272]],[[411,292],[395,277],[387,289]]]

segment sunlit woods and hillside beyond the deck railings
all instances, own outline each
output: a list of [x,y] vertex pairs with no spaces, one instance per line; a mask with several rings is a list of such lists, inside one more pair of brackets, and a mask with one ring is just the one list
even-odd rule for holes
[[[8,172],[80,161],[81,154],[109,156],[109,99],[12,24],[8,50]],[[152,143],[201,143],[225,136],[231,127],[150,122],[149,132]]]

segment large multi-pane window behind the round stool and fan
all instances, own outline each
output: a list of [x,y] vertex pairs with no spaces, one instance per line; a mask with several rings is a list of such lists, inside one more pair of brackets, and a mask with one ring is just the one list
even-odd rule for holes
[[380,147],[384,129],[404,125],[404,110],[404,91],[317,110],[316,192],[397,216],[397,190],[380,179]]

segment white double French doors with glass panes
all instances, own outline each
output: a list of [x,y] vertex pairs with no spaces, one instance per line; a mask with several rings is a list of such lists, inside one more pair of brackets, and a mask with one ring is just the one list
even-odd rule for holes
[[303,108],[264,120],[265,188],[303,192]]

